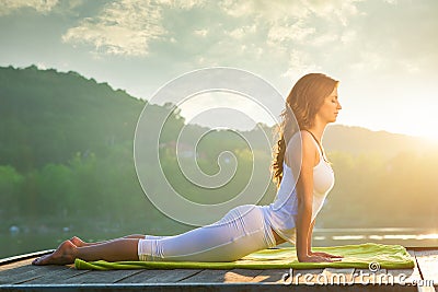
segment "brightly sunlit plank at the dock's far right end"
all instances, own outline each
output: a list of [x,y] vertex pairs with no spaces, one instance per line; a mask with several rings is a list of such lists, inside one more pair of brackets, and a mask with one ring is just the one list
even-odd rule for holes
[[423,284],[438,285],[438,249],[415,252]]

